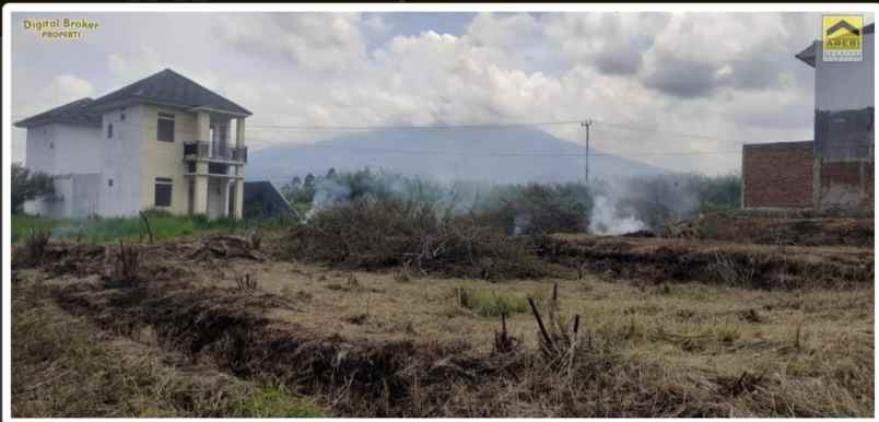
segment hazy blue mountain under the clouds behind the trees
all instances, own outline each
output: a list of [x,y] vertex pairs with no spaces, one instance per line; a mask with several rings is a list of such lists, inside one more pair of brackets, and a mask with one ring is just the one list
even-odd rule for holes
[[[593,150],[590,178],[619,179],[667,171]],[[584,148],[523,128],[386,129],[315,144],[277,144],[250,152],[246,177],[280,186],[293,176],[370,166],[440,180],[496,183],[581,180]]]

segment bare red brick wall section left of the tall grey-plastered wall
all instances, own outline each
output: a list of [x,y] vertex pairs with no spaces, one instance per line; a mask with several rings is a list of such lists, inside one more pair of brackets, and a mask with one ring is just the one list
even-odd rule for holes
[[745,208],[812,206],[813,142],[754,143],[742,148]]

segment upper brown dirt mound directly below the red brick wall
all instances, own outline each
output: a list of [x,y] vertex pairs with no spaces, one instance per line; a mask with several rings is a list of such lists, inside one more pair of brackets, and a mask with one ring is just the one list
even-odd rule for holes
[[778,218],[713,213],[669,225],[661,235],[762,245],[872,247],[872,218]]

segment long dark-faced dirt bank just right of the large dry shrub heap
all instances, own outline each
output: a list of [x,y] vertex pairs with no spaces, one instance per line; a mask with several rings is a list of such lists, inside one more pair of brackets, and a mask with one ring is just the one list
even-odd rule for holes
[[612,278],[765,289],[842,286],[874,279],[872,249],[563,235],[538,242],[547,261]]

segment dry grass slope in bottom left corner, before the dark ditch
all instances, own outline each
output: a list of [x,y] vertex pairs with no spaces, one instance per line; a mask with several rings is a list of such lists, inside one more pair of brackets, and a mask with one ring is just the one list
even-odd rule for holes
[[328,410],[282,386],[242,380],[159,347],[155,332],[118,337],[71,317],[42,276],[13,291],[15,418],[293,418]]

